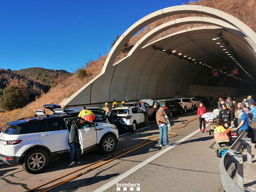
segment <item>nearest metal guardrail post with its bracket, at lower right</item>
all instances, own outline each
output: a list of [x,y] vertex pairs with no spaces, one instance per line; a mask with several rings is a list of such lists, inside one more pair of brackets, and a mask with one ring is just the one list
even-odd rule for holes
[[227,154],[230,163],[237,164],[237,184],[243,188],[244,187],[244,174],[243,174],[243,155],[231,155]]

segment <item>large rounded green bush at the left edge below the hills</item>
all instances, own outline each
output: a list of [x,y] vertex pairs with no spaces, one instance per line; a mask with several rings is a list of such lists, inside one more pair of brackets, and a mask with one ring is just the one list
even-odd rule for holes
[[9,85],[3,90],[3,95],[0,97],[0,106],[4,110],[11,111],[25,107],[27,98],[22,92],[22,89],[15,85]]

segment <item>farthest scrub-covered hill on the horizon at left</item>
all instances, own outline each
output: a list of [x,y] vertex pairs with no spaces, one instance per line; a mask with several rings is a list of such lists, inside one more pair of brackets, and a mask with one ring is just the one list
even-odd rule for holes
[[20,69],[12,72],[14,74],[22,76],[23,78],[27,78],[36,82],[41,82],[43,84],[49,84],[49,85],[51,83],[54,83],[54,80],[59,76],[71,74],[65,70],[45,69],[42,67],[26,68],[26,69]]

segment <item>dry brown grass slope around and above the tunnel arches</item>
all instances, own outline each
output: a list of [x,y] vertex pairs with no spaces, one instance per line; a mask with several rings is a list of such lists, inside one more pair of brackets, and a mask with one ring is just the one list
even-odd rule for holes
[[[252,28],[254,31],[256,31],[256,0],[201,0],[197,2],[190,2],[190,5],[202,5],[207,7],[212,7],[215,9],[219,9],[221,11],[224,11],[226,13],[229,13],[236,18],[243,21],[245,24],[247,24],[250,28]],[[136,36],[133,36],[130,41],[129,45],[133,46],[138,42],[146,33],[148,33],[150,30],[154,29],[155,27],[171,21],[173,19],[182,18],[185,16],[202,16],[202,15],[193,15],[193,14],[184,14],[184,15],[174,15],[169,16],[167,18],[163,18],[160,20],[157,20],[151,24],[149,24],[147,27],[145,27],[143,30],[141,30]],[[176,27],[170,30],[167,30],[156,37],[154,39],[150,40],[150,42],[155,41],[157,39],[160,39],[163,36],[184,30],[188,27],[199,27],[202,25],[184,25],[181,27]],[[129,26],[127,26],[129,27]],[[148,42],[149,43],[149,42]],[[115,62],[121,60],[124,58],[128,53],[120,52],[120,54],[117,56]],[[34,114],[35,110],[42,109],[42,105],[44,104],[53,104],[53,103],[59,103],[59,101],[63,98],[71,96],[74,92],[76,92],[78,89],[80,89],[83,85],[88,83],[90,80],[92,80],[94,77],[99,75],[101,73],[102,67],[104,65],[104,62],[106,60],[106,56],[100,56],[98,60],[90,62],[86,69],[87,76],[81,81],[78,80],[76,77],[76,74],[69,77],[67,80],[61,81],[62,83],[59,83],[57,87],[50,89],[50,91],[47,94],[42,95],[38,100],[30,103],[23,109],[16,109],[9,112],[1,112],[0,113],[0,128],[5,126],[6,122],[14,121],[18,118],[23,118],[26,116],[31,116]],[[75,85],[78,84],[78,85]]]

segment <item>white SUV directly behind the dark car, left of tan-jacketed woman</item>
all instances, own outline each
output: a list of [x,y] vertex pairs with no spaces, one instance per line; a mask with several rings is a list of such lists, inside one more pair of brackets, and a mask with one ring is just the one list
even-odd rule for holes
[[136,131],[137,126],[146,124],[143,112],[137,107],[118,107],[112,111],[119,117],[121,123],[133,132]]

